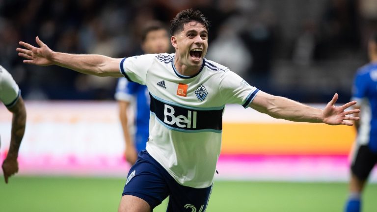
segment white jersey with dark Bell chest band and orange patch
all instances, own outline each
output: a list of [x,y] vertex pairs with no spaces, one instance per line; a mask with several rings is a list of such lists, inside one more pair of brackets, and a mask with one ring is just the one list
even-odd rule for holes
[[120,72],[151,96],[147,151],[181,185],[212,185],[225,104],[247,107],[259,91],[227,67],[204,59],[194,76],[174,67],[175,54],[124,58]]

